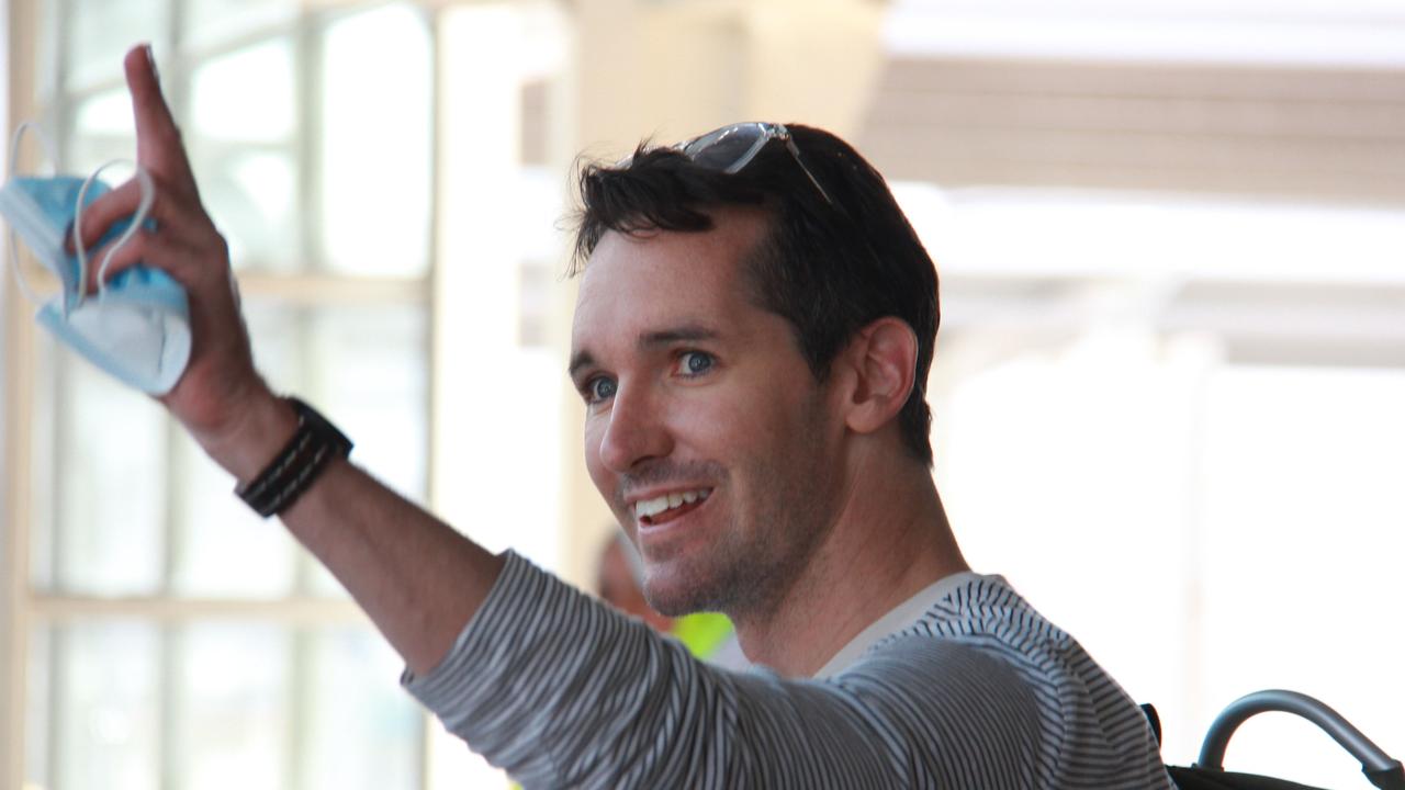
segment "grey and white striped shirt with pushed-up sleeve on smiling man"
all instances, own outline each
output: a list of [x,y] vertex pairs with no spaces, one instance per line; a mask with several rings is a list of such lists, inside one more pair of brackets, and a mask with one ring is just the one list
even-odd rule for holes
[[1141,710],[999,576],[797,680],[708,666],[509,552],[402,682],[524,787],[1172,787]]

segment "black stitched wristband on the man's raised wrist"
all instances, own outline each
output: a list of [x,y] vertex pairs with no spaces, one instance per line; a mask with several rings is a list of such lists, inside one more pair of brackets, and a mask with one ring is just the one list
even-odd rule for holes
[[235,489],[264,519],[291,507],[333,460],[351,454],[351,440],[316,409],[296,398],[287,401],[298,413],[298,430],[259,477]]

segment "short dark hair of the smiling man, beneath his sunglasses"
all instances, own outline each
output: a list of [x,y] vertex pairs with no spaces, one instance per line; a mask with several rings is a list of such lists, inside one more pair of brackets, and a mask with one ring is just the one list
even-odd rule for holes
[[811,127],[787,128],[823,194],[777,141],[736,174],[648,142],[625,163],[584,166],[570,274],[584,268],[607,231],[700,232],[712,228],[712,209],[766,209],[771,228],[747,261],[752,287],[763,309],[791,323],[816,381],[880,318],[896,316],[917,335],[916,382],[899,423],[909,453],[932,465],[926,389],[941,319],[932,257],[882,176],[853,146]]

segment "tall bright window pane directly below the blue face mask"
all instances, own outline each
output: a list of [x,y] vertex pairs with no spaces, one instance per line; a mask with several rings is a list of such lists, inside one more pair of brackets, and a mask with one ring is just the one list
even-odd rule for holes
[[163,410],[77,357],[60,354],[55,420],[56,586],[150,595],[164,561],[169,425]]

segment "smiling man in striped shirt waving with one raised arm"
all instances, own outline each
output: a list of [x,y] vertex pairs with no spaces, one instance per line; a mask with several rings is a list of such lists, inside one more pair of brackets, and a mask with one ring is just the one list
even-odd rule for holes
[[[881,177],[743,124],[587,169],[569,373],[590,475],[666,614],[721,610],[732,673],[495,557],[344,460],[254,371],[228,253],[149,49],[126,58],[156,229],[118,252],[190,291],[162,401],[405,658],[405,683],[527,786],[1168,787],[1141,711],[1000,578],[932,482],[932,261]],[[122,187],[84,215],[97,239]]]

